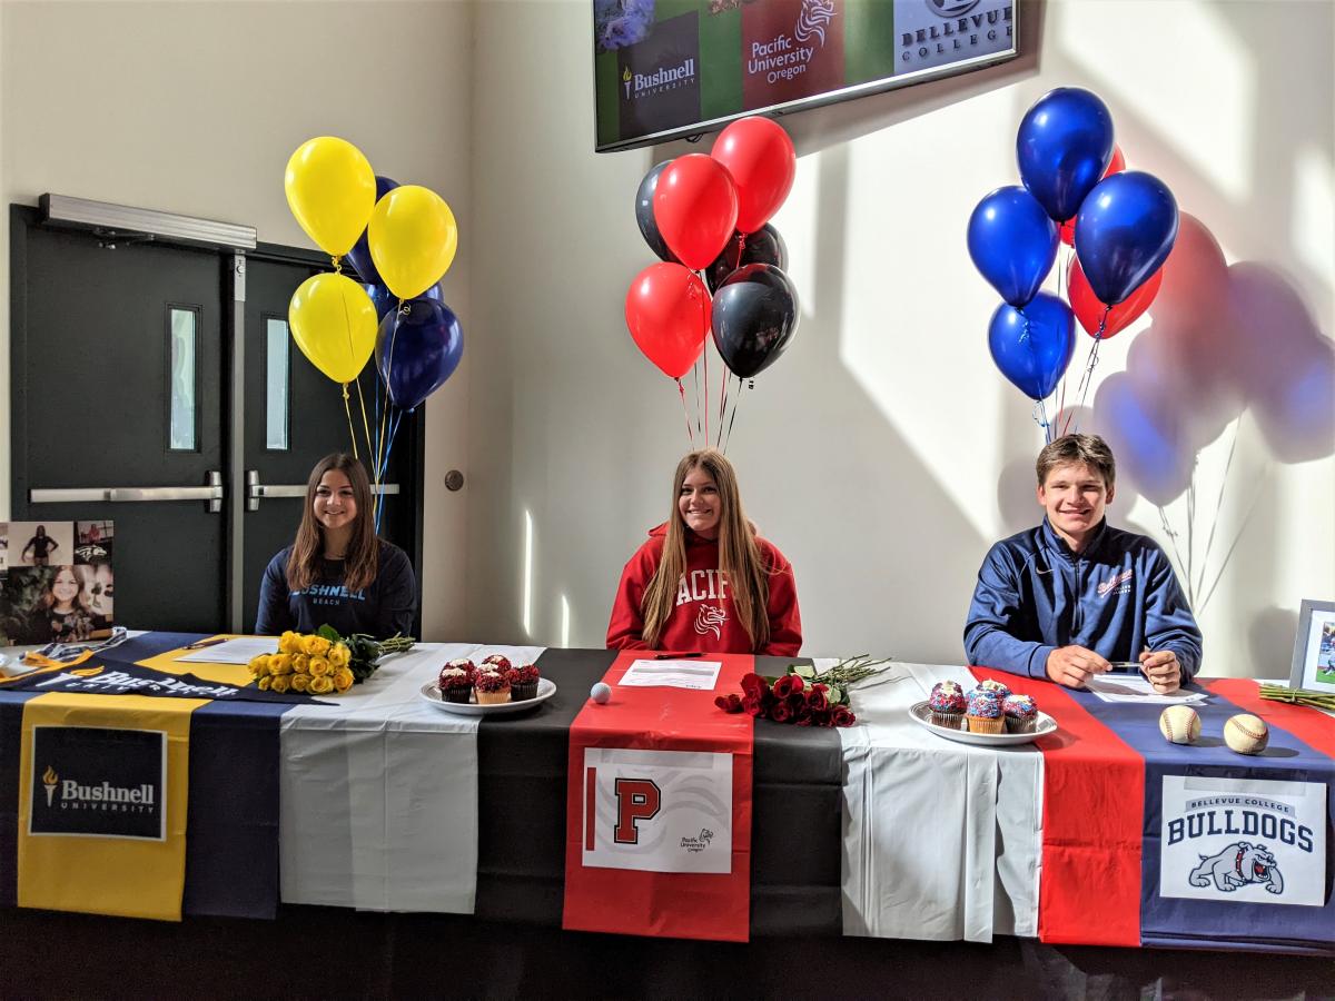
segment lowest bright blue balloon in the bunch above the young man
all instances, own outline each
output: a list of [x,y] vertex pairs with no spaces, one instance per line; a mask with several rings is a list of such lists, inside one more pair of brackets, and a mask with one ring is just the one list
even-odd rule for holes
[[1048,292],[1039,292],[1024,312],[1003,303],[988,323],[988,348],[1001,375],[1020,392],[1047,399],[1076,350],[1075,314]]

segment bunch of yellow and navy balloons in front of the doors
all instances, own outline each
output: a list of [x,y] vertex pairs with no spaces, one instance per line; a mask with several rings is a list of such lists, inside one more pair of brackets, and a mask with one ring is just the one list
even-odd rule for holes
[[[334,136],[296,148],[283,188],[296,222],[334,263],[292,296],[294,340],[343,384],[344,399],[374,352],[390,402],[413,411],[463,354],[459,320],[438,284],[459,244],[454,212],[429,188],[378,178],[355,145]],[[343,272],[342,259],[360,280]]]

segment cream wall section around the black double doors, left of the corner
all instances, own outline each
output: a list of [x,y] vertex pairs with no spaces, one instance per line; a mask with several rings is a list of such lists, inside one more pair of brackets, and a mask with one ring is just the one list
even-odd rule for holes
[[[283,168],[316,135],[356,144],[380,174],[451,204],[462,252],[446,276],[465,318],[470,239],[466,3],[0,4],[0,203],[51,191],[247,223],[311,246]],[[0,274],[8,275],[8,220]],[[9,509],[8,294],[0,296],[0,511]],[[465,631],[454,541],[463,502],[443,488],[462,454],[469,363],[427,406],[423,626]],[[331,387],[331,391],[335,391]],[[446,543],[446,541],[450,541]]]

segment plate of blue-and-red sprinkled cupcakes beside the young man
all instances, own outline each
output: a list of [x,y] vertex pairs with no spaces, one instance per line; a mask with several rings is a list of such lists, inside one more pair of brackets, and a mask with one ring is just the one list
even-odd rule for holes
[[1029,743],[1057,729],[1032,697],[1013,695],[991,678],[972,691],[953,681],[933,685],[932,697],[914,703],[909,715],[937,737],[988,747]]

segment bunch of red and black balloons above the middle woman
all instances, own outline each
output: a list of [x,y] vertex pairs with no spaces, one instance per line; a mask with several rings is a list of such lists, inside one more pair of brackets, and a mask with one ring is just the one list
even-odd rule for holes
[[[772,366],[792,343],[797,290],[785,274],[784,238],[769,219],[796,174],[788,133],[769,119],[745,117],[720,133],[708,156],[665,160],[639,183],[635,222],[661,260],[630,283],[626,327],[645,356],[677,380],[684,406],[681,379],[701,359],[710,331],[738,380]],[[708,380],[706,358],[706,400]],[[706,439],[708,427],[706,412]]]

